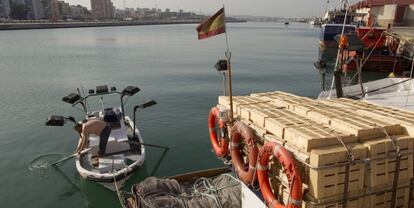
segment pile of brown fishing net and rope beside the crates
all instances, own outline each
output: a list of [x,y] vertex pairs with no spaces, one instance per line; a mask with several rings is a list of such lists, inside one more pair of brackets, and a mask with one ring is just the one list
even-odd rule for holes
[[133,187],[137,208],[232,208],[241,206],[240,182],[229,174],[180,184],[149,177]]

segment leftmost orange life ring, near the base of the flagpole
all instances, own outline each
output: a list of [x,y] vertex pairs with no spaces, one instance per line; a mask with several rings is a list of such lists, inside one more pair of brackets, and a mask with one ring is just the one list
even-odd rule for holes
[[[218,115],[219,109],[217,107],[211,108],[210,114],[208,115],[208,129],[210,131],[211,146],[213,147],[213,150],[216,153],[216,155],[221,158],[227,156],[229,152],[229,142],[225,138],[220,138],[219,142],[216,133]],[[226,123],[218,121],[218,126],[220,128],[224,128],[226,126]]]

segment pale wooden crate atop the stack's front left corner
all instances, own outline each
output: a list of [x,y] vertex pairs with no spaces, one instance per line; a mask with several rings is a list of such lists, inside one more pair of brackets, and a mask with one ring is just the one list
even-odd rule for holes
[[341,144],[338,138],[345,143],[358,141],[355,136],[343,134],[322,124],[290,125],[284,129],[283,137],[288,143],[306,152],[319,147]]

